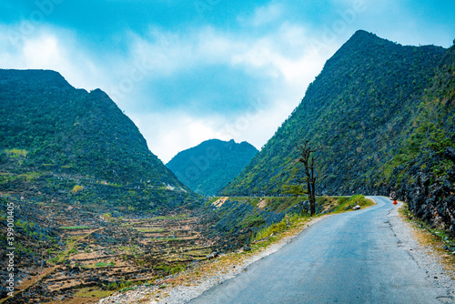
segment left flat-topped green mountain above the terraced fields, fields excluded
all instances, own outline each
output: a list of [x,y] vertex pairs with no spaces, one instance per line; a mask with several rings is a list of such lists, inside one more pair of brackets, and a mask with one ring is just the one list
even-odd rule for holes
[[0,169],[0,190],[16,195],[34,182],[51,197],[78,186],[77,201],[138,209],[192,196],[106,93],[48,70],[0,70]]

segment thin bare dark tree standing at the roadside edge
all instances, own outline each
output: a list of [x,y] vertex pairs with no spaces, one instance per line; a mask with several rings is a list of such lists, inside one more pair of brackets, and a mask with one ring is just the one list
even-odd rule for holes
[[309,213],[314,215],[316,213],[316,177],[314,174],[314,152],[315,148],[311,148],[309,141],[305,140],[303,145],[298,146],[298,162],[302,163],[305,167],[304,181],[307,183]]

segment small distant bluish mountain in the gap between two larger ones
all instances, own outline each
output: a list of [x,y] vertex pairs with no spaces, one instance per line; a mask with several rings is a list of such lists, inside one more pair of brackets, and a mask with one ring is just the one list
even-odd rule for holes
[[237,177],[257,153],[258,149],[248,142],[210,139],[179,152],[166,166],[193,191],[213,196]]

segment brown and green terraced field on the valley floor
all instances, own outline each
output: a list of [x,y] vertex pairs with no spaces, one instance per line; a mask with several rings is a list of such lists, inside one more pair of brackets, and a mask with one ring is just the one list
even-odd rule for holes
[[96,300],[113,290],[153,284],[212,252],[213,244],[197,232],[197,218],[186,210],[116,218],[82,205],[19,206],[21,218],[34,215],[50,232],[36,240],[19,228],[18,238],[31,252],[18,255],[18,291],[5,303]]

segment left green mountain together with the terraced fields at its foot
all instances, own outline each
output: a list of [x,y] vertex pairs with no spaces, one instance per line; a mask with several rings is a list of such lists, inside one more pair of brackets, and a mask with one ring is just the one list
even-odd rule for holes
[[[15,248],[15,281],[32,279],[30,265],[43,273],[5,302],[123,289],[132,273],[166,277],[187,263],[181,252],[207,247],[196,224],[202,202],[103,91],[76,89],[54,71],[0,70],[0,229],[12,235],[2,233],[0,247]],[[10,291],[0,287],[0,299]]]

